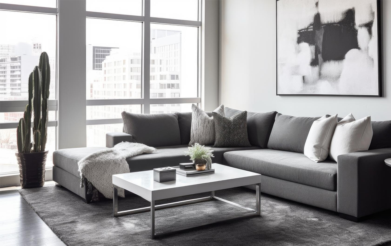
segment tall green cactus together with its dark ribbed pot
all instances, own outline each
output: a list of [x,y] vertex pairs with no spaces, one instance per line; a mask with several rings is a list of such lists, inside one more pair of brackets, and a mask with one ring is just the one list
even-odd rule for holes
[[[46,52],[42,52],[39,57],[39,66],[36,66],[30,73],[29,103],[16,128],[18,153],[15,155],[19,164],[22,188],[42,187],[45,183],[49,86],[49,58]],[[32,126],[31,114],[34,115]]]

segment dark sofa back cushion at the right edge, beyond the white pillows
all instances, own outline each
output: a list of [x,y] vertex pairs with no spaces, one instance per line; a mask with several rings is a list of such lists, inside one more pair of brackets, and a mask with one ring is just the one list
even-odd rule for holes
[[369,150],[391,148],[391,120],[372,121],[373,137]]

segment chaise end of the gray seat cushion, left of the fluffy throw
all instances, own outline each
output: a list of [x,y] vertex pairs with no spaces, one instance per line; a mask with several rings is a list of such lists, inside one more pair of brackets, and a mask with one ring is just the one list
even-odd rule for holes
[[61,149],[53,152],[53,165],[64,169],[68,173],[80,178],[79,166],[77,162],[87,155],[95,153],[99,150],[104,150],[106,147],[86,147],[86,148],[70,148]]

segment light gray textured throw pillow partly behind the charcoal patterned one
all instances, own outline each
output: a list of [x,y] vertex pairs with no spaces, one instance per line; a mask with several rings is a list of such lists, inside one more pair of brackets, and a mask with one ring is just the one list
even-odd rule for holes
[[[220,105],[213,112],[225,116],[224,105]],[[201,145],[212,145],[215,143],[215,126],[213,117],[209,117],[197,105],[192,105],[192,128],[190,130],[190,143],[193,145],[199,143]]]

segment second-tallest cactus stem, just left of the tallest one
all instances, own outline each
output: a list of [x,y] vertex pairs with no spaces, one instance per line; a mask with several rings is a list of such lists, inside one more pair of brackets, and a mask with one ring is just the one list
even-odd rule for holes
[[34,123],[32,128],[34,135],[33,152],[39,152],[41,149],[39,127],[41,126],[42,78],[38,66],[33,70],[32,89],[32,107],[34,110]]

